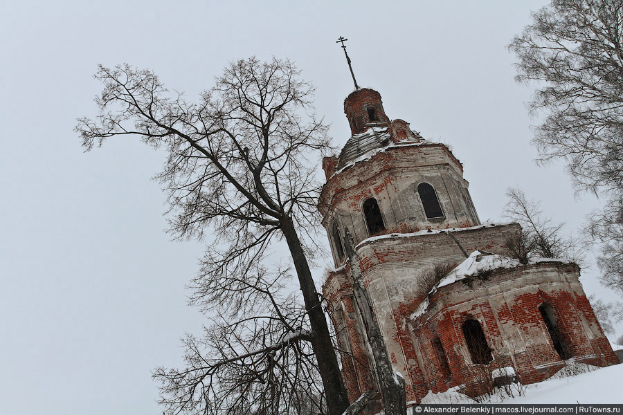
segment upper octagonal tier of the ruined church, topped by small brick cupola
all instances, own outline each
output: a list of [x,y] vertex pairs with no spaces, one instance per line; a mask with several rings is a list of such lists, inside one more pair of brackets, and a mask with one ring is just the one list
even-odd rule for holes
[[357,89],[344,100],[352,136],[325,157],[327,183],[318,208],[336,265],[348,228],[355,243],[384,234],[480,224],[463,167],[446,145],[424,140],[404,120],[390,120],[381,94]]

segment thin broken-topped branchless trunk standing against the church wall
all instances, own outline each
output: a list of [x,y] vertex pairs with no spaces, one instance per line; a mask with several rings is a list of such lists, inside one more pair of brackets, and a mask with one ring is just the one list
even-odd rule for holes
[[379,329],[370,298],[363,285],[361,268],[359,268],[359,257],[357,257],[352,235],[348,230],[345,230],[345,240],[346,254],[348,259],[350,259],[350,273],[354,282],[352,284],[352,293],[361,313],[361,320],[363,320],[365,326],[365,335],[368,337],[368,342],[372,349],[374,367],[377,369],[377,375],[381,383],[381,392],[383,393],[383,409],[386,415],[406,415],[404,379],[396,376],[392,369],[392,362],[387,353],[381,329]]

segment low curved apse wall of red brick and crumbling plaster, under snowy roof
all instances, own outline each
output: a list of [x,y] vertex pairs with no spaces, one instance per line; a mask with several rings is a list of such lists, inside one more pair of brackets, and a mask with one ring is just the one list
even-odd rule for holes
[[[606,366],[617,362],[579,282],[575,264],[542,262],[511,270],[496,270],[484,279],[474,278],[439,288],[431,295],[425,313],[409,319],[416,360],[435,393],[460,384],[473,384],[479,376],[460,329],[473,317],[482,326],[493,350],[491,368],[513,366],[521,382],[539,382],[565,365],[554,350],[539,305],[545,303],[558,315],[563,341],[580,362]],[[587,306],[588,304],[588,306]],[[431,348],[439,337],[451,378],[444,379]],[[419,396],[418,398],[421,398]]]

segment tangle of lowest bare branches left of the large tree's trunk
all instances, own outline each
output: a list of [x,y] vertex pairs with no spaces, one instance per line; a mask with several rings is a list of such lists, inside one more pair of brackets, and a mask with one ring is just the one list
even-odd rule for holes
[[[186,335],[183,369],[159,368],[169,412],[326,414],[305,308],[282,295],[287,270],[231,282],[202,338]],[[247,275],[248,277],[249,275]]]

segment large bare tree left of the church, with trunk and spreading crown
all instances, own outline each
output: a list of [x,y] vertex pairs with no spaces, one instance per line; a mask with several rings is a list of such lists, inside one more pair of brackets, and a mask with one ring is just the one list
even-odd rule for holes
[[[287,405],[260,405],[258,396],[285,391],[264,385],[276,385],[272,376],[305,389],[293,379],[317,371],[329,413],[341,414],[348,400],[307,261],[317,249],[319,194],[316,166],[307,160],[329,149],[327,127],[311,113],[311,84],[290,62],[255,58],[233,62],[197,103],[128,65],[100,66],[96,79],[103,84],[98,118],[81,118],[76,127],[84,147],[123,136],[165,147],[157,177],[168,195],[170,231],[215,237],[192,302],[222,317],[203,340],[186,340],[188,367],[156,371],[171,412],[285,413]],[[289,317],[296,301],[278,297],[288,271],[262,265],[276,238],[289,248],[304,317]],[[214,354],[206,358],[206,350]]]

